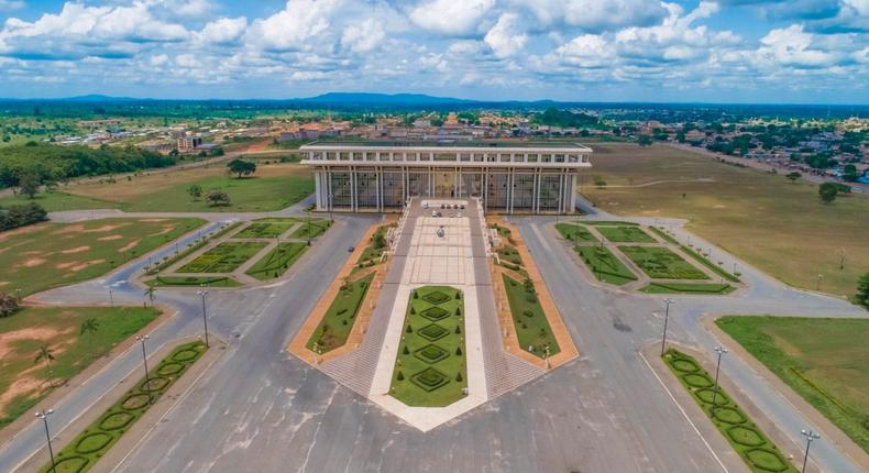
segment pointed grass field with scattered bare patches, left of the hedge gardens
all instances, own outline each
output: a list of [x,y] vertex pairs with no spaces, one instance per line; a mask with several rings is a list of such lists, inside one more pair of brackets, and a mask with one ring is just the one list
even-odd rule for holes
[[200,219],[101,219],[0,233],[0,290],[22,296],[92,279],[200,227]]

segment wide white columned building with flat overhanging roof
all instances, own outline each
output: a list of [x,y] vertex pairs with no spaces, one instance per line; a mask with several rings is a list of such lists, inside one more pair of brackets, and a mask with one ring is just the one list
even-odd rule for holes
[[592,150],[569,142],[336,141],[299,148],[317,209],[398,211],[410,197],[476,197],[487,212],[570,213]]

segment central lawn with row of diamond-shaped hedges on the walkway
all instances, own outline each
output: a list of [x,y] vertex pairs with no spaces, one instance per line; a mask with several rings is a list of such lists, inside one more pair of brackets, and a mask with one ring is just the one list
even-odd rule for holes
[[424,286],[407,304],[389,394],[408,406],[443,407],[465,397],[464,297]]

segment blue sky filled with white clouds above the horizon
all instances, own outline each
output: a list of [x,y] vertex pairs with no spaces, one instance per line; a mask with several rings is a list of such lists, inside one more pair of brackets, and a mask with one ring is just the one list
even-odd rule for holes
[[0,0],[0,97],[869,103],[869,0]]

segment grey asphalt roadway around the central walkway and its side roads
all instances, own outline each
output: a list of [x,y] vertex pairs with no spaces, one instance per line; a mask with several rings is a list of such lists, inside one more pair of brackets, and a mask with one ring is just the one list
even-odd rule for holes
[[[625,295],[590,283],[570,250],[554,238],[548,218],[514,221],[582,359],[421,433],[289,356],[285,352],[288,340],[346,258],[344,249],[355,244],[373,218],[340,217],[284,284],[212,290],[209,328],[230,340],[228,353],[117,470],[721,471],[638,355],[641,346],[659,340],[661,319],[651,312],[662,310],[660,298]],[[729,257],[723,252],[721,256]],[[678,297],[671,311],[671,338],[711,350],[715,342],[697,321],[704,312],[865,316],[842,300],[789,289],[739,265],[752,289],[733,297]],[[123,273],[56,289],[42,298],[105,301],[107,287],[113,285],[116,300],[141,304],[141,289],[125,285]],[[152,343],[200,331],[200,309],[193,292],[162,290],[157,297],[180,314],[153,334]],[[54,430],[139,369],[136,354],[121,355],[55,406]],[[789,435],[796,437],[799,429],[812,427],[746,364],[728,359],[723,371]],[[34,422],[0,447],[0,471],[11,471],[42,447],[40,429]],[[857,471],[823,441],[813,446],[813,458],[826,471]]]

